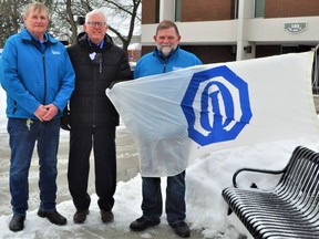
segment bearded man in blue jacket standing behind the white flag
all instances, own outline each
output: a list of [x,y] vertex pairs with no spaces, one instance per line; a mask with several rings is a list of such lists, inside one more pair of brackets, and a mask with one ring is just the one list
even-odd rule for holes
[[[181,35],[174,22],[162,21],[156,29],[154,40],[156,49],[138,60],[134,79],[202,64],[196,55],[178,46]],[[167,221],[175,233],[184,238],[191,236],[185,222],[185,170],[167,177],[165,204]],[[161,178],[142,176],[142,196],[143,216],[130,225],[134,231],[142,231],[161,222],[160,217],[163,210]]]

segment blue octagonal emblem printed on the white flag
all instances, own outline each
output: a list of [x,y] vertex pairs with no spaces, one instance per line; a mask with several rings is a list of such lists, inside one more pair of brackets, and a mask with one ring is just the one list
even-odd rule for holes
[[202,146],[235,139],[253,117],[247,83],[226,65],[195,73],[182,110]]

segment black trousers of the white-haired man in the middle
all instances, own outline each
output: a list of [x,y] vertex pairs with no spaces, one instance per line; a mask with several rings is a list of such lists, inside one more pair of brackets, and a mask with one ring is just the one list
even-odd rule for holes
[[90,154],[93,146],[95,190],[100,209],[111,210],[114,206],[116,187],[115,125],[107,127],[72,126],[68,180],[73,204],[78,210],[89,209],[88,194]]

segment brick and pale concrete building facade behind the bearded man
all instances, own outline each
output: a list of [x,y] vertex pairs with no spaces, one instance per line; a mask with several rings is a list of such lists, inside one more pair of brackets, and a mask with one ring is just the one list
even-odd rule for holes
[[142,54],[162,20],[175,21],[183,49],[204,63],[302,52],[319,43],[318,0],[144,0]]

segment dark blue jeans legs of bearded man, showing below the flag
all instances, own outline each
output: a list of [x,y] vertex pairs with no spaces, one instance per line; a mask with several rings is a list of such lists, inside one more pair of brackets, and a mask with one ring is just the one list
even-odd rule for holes
[[[185,189],[185,170],[167,177],[165,211],[169,225],[186,218]],[[160,219],[163,212],[161,178],[142,177],[142,194],[143,217],[147,220]]]

